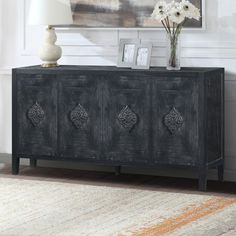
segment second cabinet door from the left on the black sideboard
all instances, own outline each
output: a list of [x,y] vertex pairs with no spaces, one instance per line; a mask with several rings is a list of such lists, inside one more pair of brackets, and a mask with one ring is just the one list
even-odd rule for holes
[[92,75],[62,75],[59,83],[59,155],[99,159],[100,105]]

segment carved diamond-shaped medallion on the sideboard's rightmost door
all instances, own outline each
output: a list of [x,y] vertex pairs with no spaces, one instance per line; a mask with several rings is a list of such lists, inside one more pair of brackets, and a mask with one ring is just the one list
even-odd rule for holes
[[164,117],[164,124],[171,134],[175,134],[182,127],[183,123],[184,119],[175,107]]

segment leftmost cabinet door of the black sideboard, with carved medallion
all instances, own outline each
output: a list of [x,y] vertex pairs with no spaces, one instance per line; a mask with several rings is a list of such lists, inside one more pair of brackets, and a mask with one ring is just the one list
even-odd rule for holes
[[55,76],[17,75],[16,83],[17,153],[54,156],[57,146]]

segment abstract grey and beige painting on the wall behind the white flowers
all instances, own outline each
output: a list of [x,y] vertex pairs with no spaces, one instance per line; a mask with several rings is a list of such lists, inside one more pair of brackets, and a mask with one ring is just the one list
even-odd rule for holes
[[[90,28],[161,27],[150,15],[158,0],[70,0],[73,26]],[[204,0],[190,0],[203,9]],[[189,20],[186,27],[202,28],[203,21]]]

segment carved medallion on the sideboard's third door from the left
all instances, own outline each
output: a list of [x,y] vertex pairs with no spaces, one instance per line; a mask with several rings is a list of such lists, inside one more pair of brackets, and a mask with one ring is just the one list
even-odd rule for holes
[[124,129],[130,131],[137,124],[138,117],[128,106],[126,106],[118,115],[118,121]]

